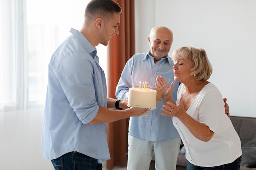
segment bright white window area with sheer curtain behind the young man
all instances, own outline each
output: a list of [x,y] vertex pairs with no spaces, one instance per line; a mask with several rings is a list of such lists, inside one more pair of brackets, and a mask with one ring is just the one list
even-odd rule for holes
[[[0,0],[0,112],[43,107],[48,63],[90,0]],[[106,47],[97,46],[106,73]]]

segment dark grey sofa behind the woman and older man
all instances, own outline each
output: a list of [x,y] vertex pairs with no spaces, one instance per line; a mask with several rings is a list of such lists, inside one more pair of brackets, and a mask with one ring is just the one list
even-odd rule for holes
[[[252,164],[254,167],[249,168],[241,163],[240,170],[256,170],[256,118],[231,116],[230,119],[241,139],[243,151],[242,162],[247,165]],[[184,154],[178,155],[176,170],[186,170],[186,162]],[[150,170],[155,170],[154,164],[153,160]]]

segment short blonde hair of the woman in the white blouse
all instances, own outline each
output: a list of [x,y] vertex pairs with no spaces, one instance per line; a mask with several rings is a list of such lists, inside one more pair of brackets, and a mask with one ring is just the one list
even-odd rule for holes
[[204,49],[197,46],[184,46],[173,51],[173,62],[186,60],[192,63],[190,75],[194,75],[198,81],[206,81],[210,78],[213,68]]

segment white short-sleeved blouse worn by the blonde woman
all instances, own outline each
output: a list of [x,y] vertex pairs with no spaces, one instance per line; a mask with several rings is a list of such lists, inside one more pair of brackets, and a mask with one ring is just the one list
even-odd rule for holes
[[[177,101],[184,88],[184,84],[181,84]],[[173,117],[173,124],[180,133],[186,148],[186,159],[190,163],[203,167],[220,166],[231,163],[242,155],[240,138],[225,114],[222,95],[214,84],[209,83],[202,88],[186,113],[214,132],[210,141],[201,141],[177,117]]]

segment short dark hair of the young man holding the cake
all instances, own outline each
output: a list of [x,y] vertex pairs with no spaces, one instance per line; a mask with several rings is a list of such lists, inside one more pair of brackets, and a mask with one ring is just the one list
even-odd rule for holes
[[114,13],[121,13],[122,9],[113,0],[91,0],[85,8],[86,20],[94,20],[98,17],[108,18]]

